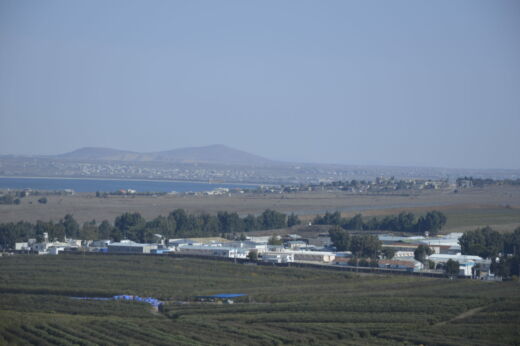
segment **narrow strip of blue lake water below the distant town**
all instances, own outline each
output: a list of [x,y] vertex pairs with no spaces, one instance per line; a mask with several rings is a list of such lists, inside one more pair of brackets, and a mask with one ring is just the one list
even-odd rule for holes
[[150,180],[112,180],[112,179],[60,179],[60,178],[0,178],[0,189],[33,189],[62,191],[72,189],[76,192],[114,192],[132,189],[137,192],[201,192],[223,188],[249,188],[254,184],[226,184]]

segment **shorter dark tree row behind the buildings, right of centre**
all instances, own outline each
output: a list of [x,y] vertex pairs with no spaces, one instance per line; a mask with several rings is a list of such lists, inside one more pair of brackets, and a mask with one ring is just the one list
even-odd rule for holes
[[408,232],[436,235],[446,224],[446,215],[440,211],[430,211],[418,218],[413,213],[402,212],[398,215],[389,215],[383,218],[364,220],[361,214],[352,218],[343,218],[339,211],[316,216],[313,223],[317,225],[340,226],[346,230],[388,230],[394,232]]

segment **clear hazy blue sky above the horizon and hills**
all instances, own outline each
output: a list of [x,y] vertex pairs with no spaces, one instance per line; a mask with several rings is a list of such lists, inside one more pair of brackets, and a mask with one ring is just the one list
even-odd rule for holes
[[520,168],[520,1],[0,0],[0,153]]

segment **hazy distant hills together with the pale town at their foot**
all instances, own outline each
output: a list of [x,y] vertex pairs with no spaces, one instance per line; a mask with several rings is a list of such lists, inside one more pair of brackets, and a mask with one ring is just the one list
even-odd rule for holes
[[[216,159],[217,158],[217,159]],[[319,184],[335,181],[518,179],[518,170],[360,166],[271,161],[225,146],[138,154],[83,148],[54,156],[0,156],[0,176],[153,179],[257,184]]]

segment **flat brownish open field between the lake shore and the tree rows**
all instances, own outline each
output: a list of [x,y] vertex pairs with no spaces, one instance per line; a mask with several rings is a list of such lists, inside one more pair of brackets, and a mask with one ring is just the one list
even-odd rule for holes
[[356,213],[384,215],[409,210],[421,214],[438,209],[448,215],[446,230],[466,230],[492,225],[512,230],[520,225],[520,188],[488,187],[411,194],[352,195],[334,193],[291,193],[232,196],[159,196],[96,198],[92,194],[51,196],[47,204],[37,197],[22,199],[21,205],[0,205],[0,222],[27,220],[57,221],[73,214],[80,222],[101,221],[124,212],[140,212],[145,218],[167,215],[173,209],[190,212],[236,211],[241,215],[259,214],[267,208],[284,213],[295,212],[305,220],[325,211],[339,210],[344,216]]

